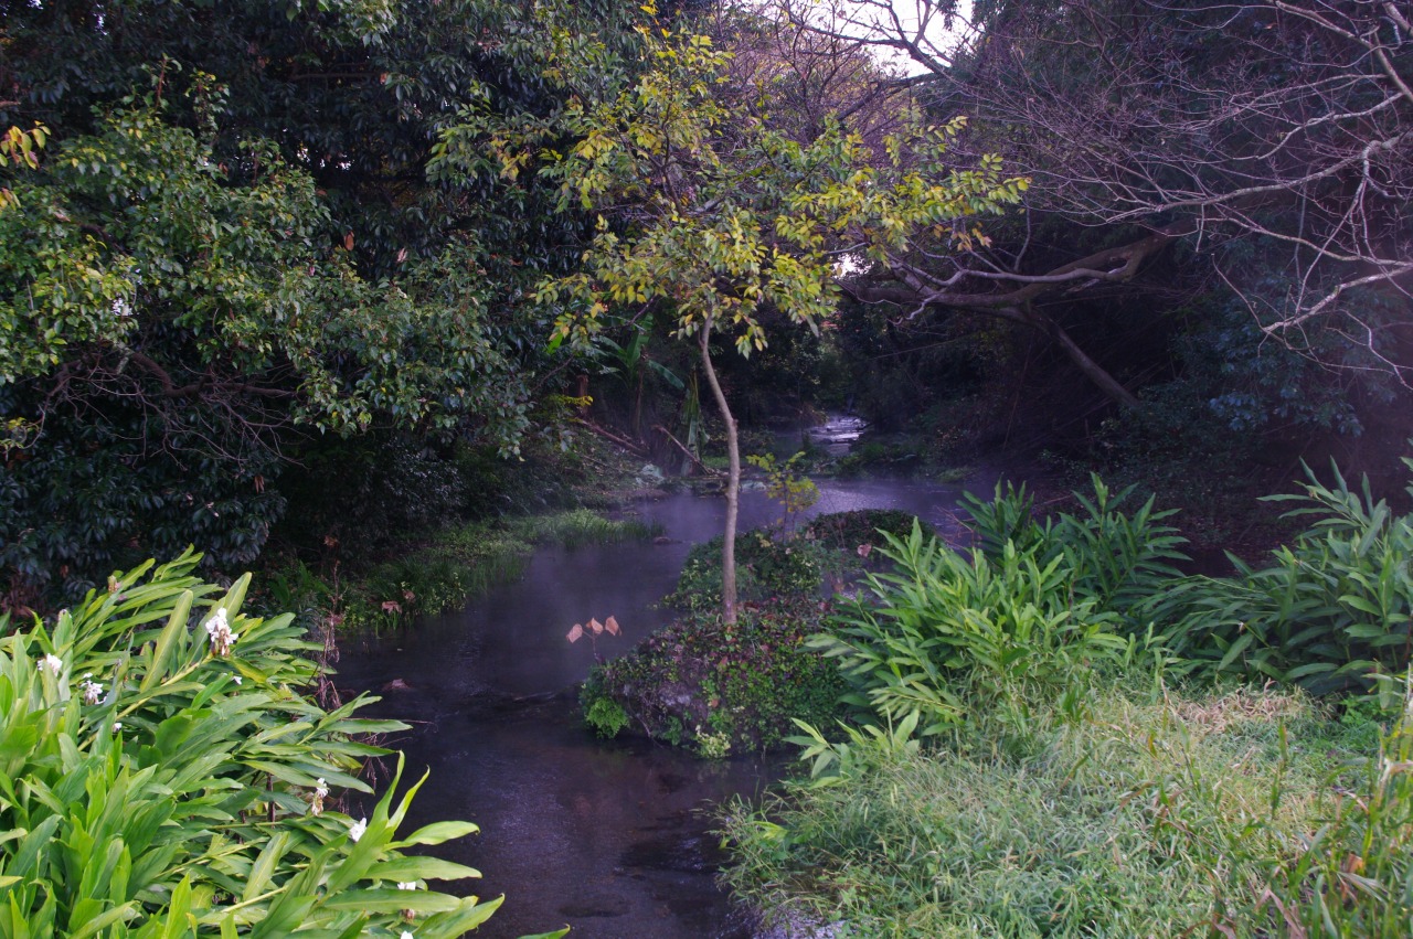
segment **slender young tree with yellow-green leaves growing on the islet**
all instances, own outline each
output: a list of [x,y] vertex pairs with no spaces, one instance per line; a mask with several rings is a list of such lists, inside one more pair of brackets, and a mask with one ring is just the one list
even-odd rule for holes
[[749,356],[766,346],[764,311],[818,328],[842,268],[920,230],[971,244],[981,237],[974,219],[1019,201],[1026,182],[1005,178],[992,157],[950,165],[959,120],[909,120],[876,145],[836,117],[791,134],[771,120],[767,95],[732,86],[732,54],[708,37],[650,18],[625,56],[571,32],[561,11],[544,17],[545,73],[565,88],[565,106],[514,121],[468,109],[434,165],[452,171],[489,147],[507,179],[534,172],[558,186],[561,212],[596,213],[581,270],[540,284],[555,312],[552,345],[651,308],[695,343],[726,426],[722,613],[733,621],[740,448],[714,335]]

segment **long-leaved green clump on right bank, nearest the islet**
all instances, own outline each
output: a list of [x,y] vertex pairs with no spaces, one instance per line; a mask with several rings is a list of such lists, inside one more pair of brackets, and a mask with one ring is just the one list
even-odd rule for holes
[[1099,479],[1082,514],[1040,524],[1024,490],[965,501],[976,546],[962,555],[914,522],[883,534],[890,562],[868,575],[834,628],[811,647],[839,661],[848,702],[868,714],[921,719],[937,733],[975,693],[1065,689],[1135,652],[1139,599],[1176,576],[1181,538],[1149,500],[1132,515]]

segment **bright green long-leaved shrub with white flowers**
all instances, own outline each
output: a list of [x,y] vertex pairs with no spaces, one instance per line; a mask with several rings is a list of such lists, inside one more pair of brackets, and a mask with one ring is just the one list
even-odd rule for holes
[[[199,555],[116,575],[51,626],[0,620],[0,933],[458,936],[500,901],[427,890],[475,877],[408,847],[475,832],[397,829],[420,782],[355,822],[359,737],[404,730],[325,710],[291,616],[240,614]],[[148,572],[151,576],[147,576]],[[417,890],[398,890],[415,884]],[[404,912],[407,911],[407,912]]]

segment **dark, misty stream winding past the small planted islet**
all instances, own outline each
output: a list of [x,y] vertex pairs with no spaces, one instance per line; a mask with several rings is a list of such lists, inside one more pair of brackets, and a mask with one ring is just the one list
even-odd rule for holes
[[[818,487],[808,515],[901,508],[959,535],[958,486],[870,479]],[[562,925],[572,939],[755,936],[715,884],[723,859],[709,811],[757,796],[788,754],[708,762],[639,738],[601,741],[579,719],[574,685],[595,650],[571,645],[565,633],[589,617],[617,617],[623,635],[601,637],[598,650],[612,658],[666,624],[671,611],[653,604],[673,590],[688,548],[721,534],[725,503],[674,494],[625,514],[660,524],[666,538],[540,549],[524,578],[468,609],[342,650],[339,688],[380,693],[366,713],[413,724],[390,741],[407,754],[407,781],[431,770],[407,830],[438,819],[480,826],[437,849],[483,873],[468,890],[506,895],[478,936]],[[742,493],[743,530],[779,514],[763,493]]]

